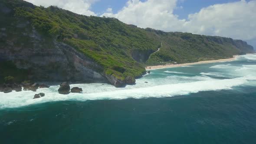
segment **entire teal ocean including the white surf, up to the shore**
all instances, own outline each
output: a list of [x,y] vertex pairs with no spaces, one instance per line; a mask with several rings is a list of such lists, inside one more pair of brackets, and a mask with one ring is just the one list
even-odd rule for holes
[[0,93],[0,144],[256,144],[256,54],[154,69],[125,88],[50,85]]

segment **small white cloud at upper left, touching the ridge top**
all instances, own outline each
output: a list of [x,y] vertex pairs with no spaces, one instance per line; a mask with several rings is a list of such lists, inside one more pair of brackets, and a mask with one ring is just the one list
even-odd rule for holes
[[90,10],[92,3],[98,0],[26,0],[37,6],[57,6],[65,10],[72,11],[74,13],[83,14],[86,16],[96,16],[94,12]]

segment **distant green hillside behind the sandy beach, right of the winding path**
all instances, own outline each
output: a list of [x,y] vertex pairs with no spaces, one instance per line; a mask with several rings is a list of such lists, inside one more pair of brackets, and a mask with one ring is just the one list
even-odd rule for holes
[[166,33],[149,28],[146,30],[154,39],[162,42],[162,48],[151,55],[147,61],[148,65],[156,65],[160,62],[187,63],[225,59],[243,51],[251,52],[248,50],[250,46],[239,49],[240,47],[235,45],[237,42],[231,38],[180,32]]

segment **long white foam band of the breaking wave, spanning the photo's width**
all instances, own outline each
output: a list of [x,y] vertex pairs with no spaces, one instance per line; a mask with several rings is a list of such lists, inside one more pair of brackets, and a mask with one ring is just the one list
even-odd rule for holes
[[[86,101],[100,99],[126,99],[126,98],[149,98],[149,97],[171,97],[175,95],[187,95],[201,91],[214,91],[231,89],[233,86],[245,84],[248,80],[256,80],[256,77],[246,76],[235,79],[210,79],[206,81],[157,85],[147,88],[114,88],[111,85],[77,84],[83,88],[82,93],[70,93],[60,95],[57,92],[58,85],[50,88],[41,88],[38,92],[22,91],[7,94],[0,93],[0,108],[15,108],[31,104],[39,104],[49,101]],[[111,87],[111,88],[110,88]],[[109,89],[110,88],[110,89]],[[46,96],[32,99],[36,93],[43,92]]]

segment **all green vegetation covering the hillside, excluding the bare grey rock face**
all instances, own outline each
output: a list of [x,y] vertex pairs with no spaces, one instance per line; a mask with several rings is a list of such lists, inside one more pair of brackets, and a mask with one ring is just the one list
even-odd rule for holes
[[[245,42],[230,38],[141,29],[115,18],[83,16],[53,6],[37,7],[23,0],[0,0],[0,7],[2,12],[11,10],[1,14],[0,26],[9,26],[14,32],[13,23],[29,21],[31,29],[35,28],[49,43],[58,41],[72,46],[101,65],[103,74],[120,80],[141,76],[145,65],[223,59],[250,52]],[[17,41],[27,43],[22,36]],[[53,44],[43,46],[46,51],[54,49]]]

